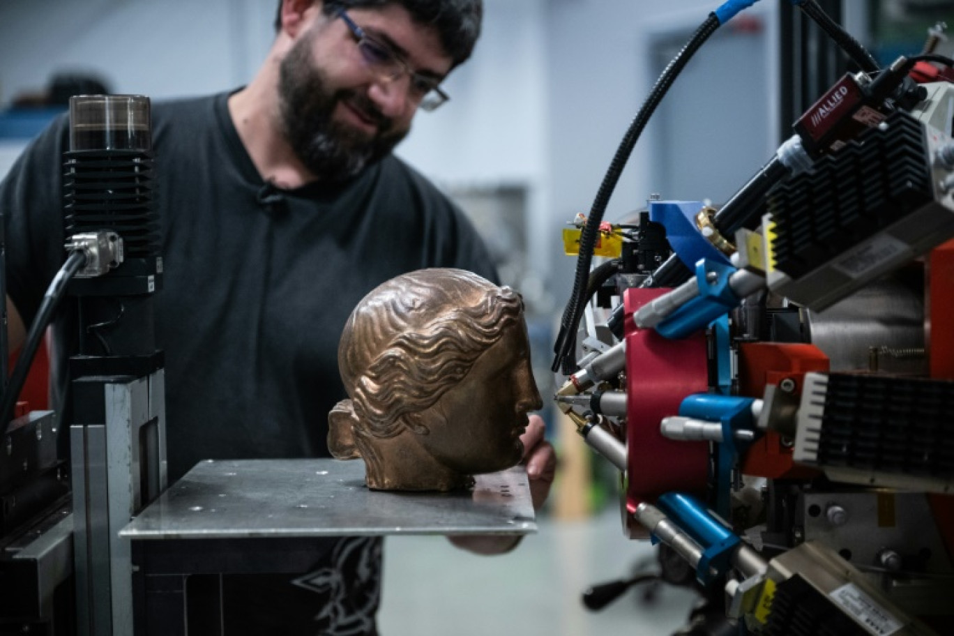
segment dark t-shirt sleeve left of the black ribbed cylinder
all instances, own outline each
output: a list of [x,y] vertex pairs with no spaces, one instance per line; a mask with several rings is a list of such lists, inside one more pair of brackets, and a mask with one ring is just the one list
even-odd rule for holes
[[61,184],[67,133],[67,117],[62,115],[31,142],[0,182],[7,294],[28,327],[66,258]]

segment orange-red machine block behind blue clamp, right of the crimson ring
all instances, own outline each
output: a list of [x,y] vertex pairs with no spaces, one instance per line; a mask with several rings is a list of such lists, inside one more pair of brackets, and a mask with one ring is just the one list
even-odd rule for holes
[[[828,357],[814,344],[744,342],[738,348],[739,395],[761,399],[765,386],[789,378],[800,394],[805,374],[828,371]],[[807,479],[819,471],[792,462],[792,449],[781,436],[768,431],[749,448],[742,461],[742,473],[770,480]]]

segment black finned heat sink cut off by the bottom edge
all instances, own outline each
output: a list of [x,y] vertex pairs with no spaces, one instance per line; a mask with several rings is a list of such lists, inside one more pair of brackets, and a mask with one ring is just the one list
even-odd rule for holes
[[763,636],[870,636],[798,574],[776,586]]

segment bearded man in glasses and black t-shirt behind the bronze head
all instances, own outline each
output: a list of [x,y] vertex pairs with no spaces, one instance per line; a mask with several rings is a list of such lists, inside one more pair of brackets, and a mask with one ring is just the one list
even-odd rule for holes
[[[446,101],[481,18],[481,0],[283,0],[248,86],[156,104],[170,482],[209,458],[327,457],[327,414],[345,397],[338,342],[359,300],[427,267],[496,279],[460,211],[391,154],[418,110]],[[64,117],[0,184],[11,350],[64,259],[67,137]],[[69,311],[54,321],[54,405],[74,325]],[[554,459],[538,417],[522,440],[539,502]],[[513,545],[470,539],[455,544]],[[299,576],[224,577],[225,634],[376,633],[381,549],[316,541]]]

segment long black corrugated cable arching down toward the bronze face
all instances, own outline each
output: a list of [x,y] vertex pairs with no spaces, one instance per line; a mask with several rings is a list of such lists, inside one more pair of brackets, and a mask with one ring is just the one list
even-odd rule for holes
[[692,59],[695,51],[699,50],[719,26],[720,22],[716,13],[710,13],[705,22],[695,31],[686,46],[676,53],[673,60],[670,61],[666,69],[659,75],[655,85],[653,85],[653,91],[650,92],[649,97],[643,102],[639,113],[636,114],[633,123],[630,125],[630,129],[626,132],[626,135],[619,144],[619,148],[616,150],[616,154],[612,158],[610,169],[603,178],[603,183],[600,185],[599,192],[593,201],[590,217],[587,219],[587,224],[583,228],[582,236],[580,236],[580,253],[576,260],[576,276],[573,280],[573,291],[570,295],[570,300],[567,302],[567,308],[563,313],[560,334],[557,336],[556,343],[553,347],[553,352],[556,354],[556,357],[553,359],[551,368],[554,373],[561,368],[562,361],[570,355],[576,330],[579,327],[580,319],[583,317],[583,308],[586,305],[586,283],[590,273],[593,246],[596,243],[596,237],[599,236],[599,225],[603,221],[603,215],[610,202],[612,191],[615,189],[616,183],[623,173],[623,168],[626,167],[626,162],[629,160],[630,154],[633,154],[633,147],[639,139],[639,135],[643,132],[656,107],[662,101],[666,92],[669,91],[670,86],[672,86],[679,72],[681,72],[689,60]]

